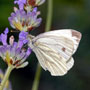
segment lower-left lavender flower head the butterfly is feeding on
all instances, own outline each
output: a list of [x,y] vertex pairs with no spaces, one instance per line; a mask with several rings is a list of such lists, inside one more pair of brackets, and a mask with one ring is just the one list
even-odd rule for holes
[[[0,36],[1,42],[3,43],[3,45],[0,45],[0,56],[8,65],[12,65],[14,68],[27,66],[28,62],[25,62],[25,60],[31,54],[31,48],[28,47],[28,33],[24,31],[20,32],[18,42],[15,42],[14,36],[11,36],[9,38],[9,44],[7,43],[7,34],[8,29]],[[27,45],[28,48],[26,48],[25,45]]]

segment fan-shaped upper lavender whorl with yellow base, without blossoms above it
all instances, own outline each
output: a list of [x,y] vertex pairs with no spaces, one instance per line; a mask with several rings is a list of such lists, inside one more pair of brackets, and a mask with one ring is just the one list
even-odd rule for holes
[[40,12],[37,12],[35,7],[31,12],[25,12],[24,10],[17,10],[9,17],[10,25],[20,31],[29,31],[35,27],[38,27],[42,21],[41,18],[37,18]]

